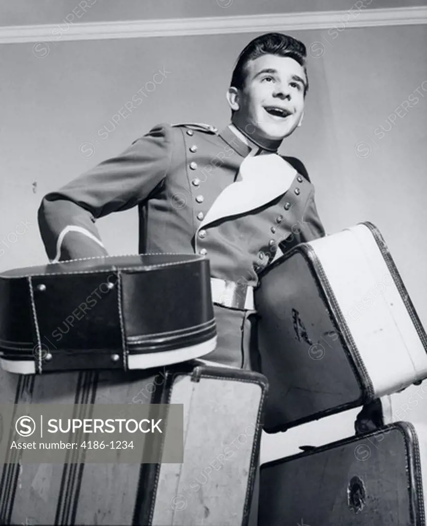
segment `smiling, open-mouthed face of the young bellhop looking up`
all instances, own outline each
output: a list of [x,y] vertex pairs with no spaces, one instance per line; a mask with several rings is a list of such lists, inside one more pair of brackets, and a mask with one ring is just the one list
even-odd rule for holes
[[298,126],[307,85],[304,68],[293,58],[262,55],[246,66],[242,89],[230,87],[232,122],[255,140],[281,140]]

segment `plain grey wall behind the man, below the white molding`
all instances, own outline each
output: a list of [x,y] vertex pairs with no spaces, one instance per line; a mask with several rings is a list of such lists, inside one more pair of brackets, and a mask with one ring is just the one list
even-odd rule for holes
[[[303,125],[284,141],[281,152],[306,164],[328,232],[364,220],[380,228],[427,327],[427,83],[425,91],[421,88],[427,80],[427,26],[331,33],[291,33],[311,49],[310,90]],[[227,125],[225,91],[231,70],[255,36],[59,41],[48,43],[44,58],[35,56],[33,44],[1,45],[0,240],[21,221],[33,225],[16,242],[6,240],[9,248],[0,244],[0,270],[47,261],[36,213],[48,191],[118,154],[156,123]],[[164,68],[167,78],[146,92],[143,104],[106,139],[98,136],[104,125],[111,129],[117,110]],[[418,104],[400,109],[403,116],[379,139],[374,130],[388,130],[388,116],[417,88],[422,94],[415,93]],[[94,155],[84,158],[79,148],[88,141]],[[355,154],[362,141],[367,144],[358,152],[365,155],[370,147],[367,157]],[[136,218],[134,209],[98,221],[110,254],[136,252]],[[420,404],[417,414],[426,409],[427,403]],[[356,412],[288,431],[284,452],[291,451],[290,442],[294,447],[352,434]],[[271,451],[278,440],[269,437]]]

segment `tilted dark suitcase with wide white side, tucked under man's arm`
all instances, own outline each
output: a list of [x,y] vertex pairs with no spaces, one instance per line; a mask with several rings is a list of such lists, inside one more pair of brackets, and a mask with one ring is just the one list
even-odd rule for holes
[[267,432],[427,377],[427,337],[387,245],[369,222],[292,249],[260,277]]

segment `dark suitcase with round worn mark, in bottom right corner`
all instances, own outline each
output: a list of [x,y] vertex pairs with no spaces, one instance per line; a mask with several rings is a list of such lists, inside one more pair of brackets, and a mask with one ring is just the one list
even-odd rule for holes
[[426,431],[396,422],[263,464],[259,524],[425,526]]

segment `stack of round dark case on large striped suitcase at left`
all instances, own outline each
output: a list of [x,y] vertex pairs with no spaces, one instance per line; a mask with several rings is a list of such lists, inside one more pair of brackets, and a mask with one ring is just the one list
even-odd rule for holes
[[2,404],[74,404],[82,418],[87,404],[184,408],[181,463],[162,462],[162,439],[157,463],[85,463],[81,448],[62,464],[23,463],[10,447],[22,439],[3,429],[1,524],[247,523],[267,385],[197,360],[216,345],[206,258],[7,271],[0,298]]

